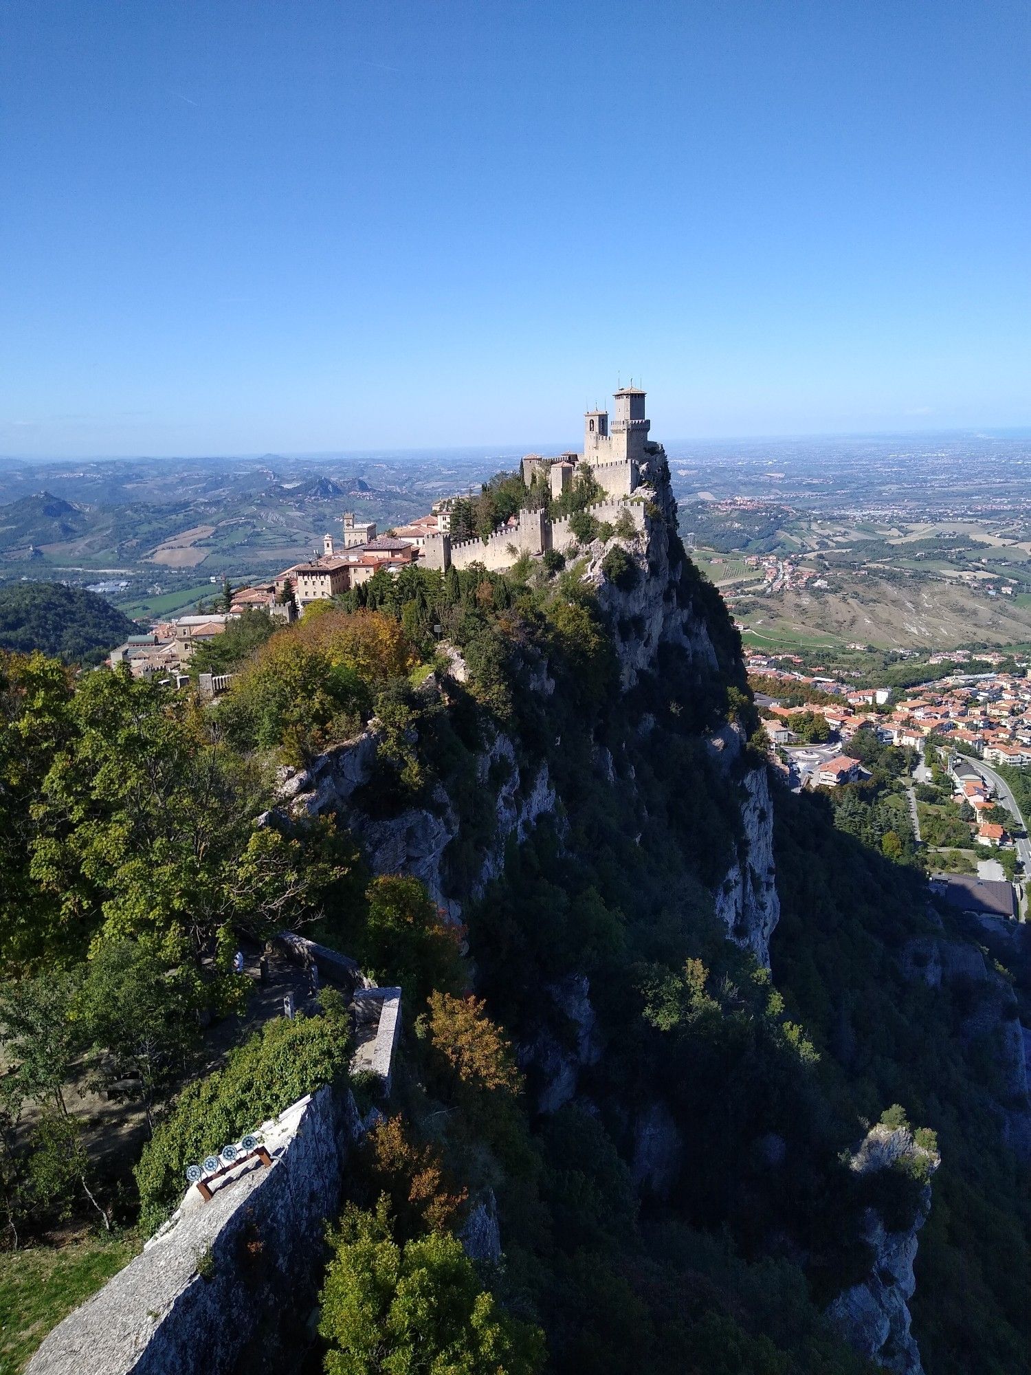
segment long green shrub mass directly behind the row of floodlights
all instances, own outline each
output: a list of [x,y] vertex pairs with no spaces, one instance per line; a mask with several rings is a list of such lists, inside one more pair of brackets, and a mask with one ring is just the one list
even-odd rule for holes
[[187,1085],[135,1169],[140,1226],[153,1232],[168,1217],[184,1192],[187,1165],[278,1116],[305,1093],[341,1081],[348,1059],[348,1024],[334,1008],[268,1022],[231,1052],[224,1068]]

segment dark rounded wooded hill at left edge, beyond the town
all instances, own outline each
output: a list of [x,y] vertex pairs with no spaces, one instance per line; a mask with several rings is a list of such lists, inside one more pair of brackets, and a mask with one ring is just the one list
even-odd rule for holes
[[0,649],[99,664],[136,626],[109,601],[63,583],[0,584]]

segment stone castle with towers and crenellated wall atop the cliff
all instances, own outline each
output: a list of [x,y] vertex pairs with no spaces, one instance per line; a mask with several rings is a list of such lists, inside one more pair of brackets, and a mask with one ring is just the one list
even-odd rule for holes
[[[643,505],[631,500],[641,485],[641,466],[652,446],[647,433],[652,422],[645,418],[645,392],[636,386],[623,386],[614,393],[616,415],[609,428],[608,411],[587,411],[584,415],[583,452],[564,452],[554,458],[526,454],[522,459],[522,480],[529,487],[535,480],[546,481],[553,498],[559,498],[581,474],[590,474],[605,492],[605,498],[588,506],[595,520],[614,521],[623,512],[630,513],[635,529],[643,529]],[[443,522],[441,522],[443,524]],[[484,564],[491,569],[510,568],[522,554],[543,554],[550,549],[565,551],[576,543],[569,529],[569,518],[548,520],[543,510],[520,512],[518,520],[483,539],[455,540],[448,529],[429,534],[423,543],[426,568],[445,571]]]

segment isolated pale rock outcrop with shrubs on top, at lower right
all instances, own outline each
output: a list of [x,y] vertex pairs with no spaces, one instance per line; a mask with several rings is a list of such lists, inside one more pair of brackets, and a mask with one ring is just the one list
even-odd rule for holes
[[[858,1174],[903,1167],[920,1162],[929,1176],[938,1169],[938,1155],[916,1144],[907,1128],[877,1125],[863,1138],[850,1160]],[[917,1232],[931,1211],[931,1185],[920,1192],[913,1224],[888,1231],[881,1214],[870,1207],[863,1220],[863,1240],[872,1251],[866,1280],[839,1294],[828,1317],[845,1341],[863,1356],[896,1375],[924,1375],[920,1349],[910,1331],[909,1301],[917,1287],[913,1262]]]

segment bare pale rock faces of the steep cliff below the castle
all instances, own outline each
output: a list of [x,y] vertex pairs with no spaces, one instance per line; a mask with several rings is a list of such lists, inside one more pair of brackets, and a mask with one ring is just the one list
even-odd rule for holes
[[[676,535],[676,503],[669,485],[665,454],[650,446],[635,500],[645,505],[643,532],[595,540],[583,550],[577,578],[597,594],[619,664],[620,690],[631,694],[642,679],[661,682],[664,650],[678,656],[678,671],[698,696],[715,693],[720,683],[740,674],[737,641],[715,591],[690,571]],[[619,586],[606,575],[605,556],[623,549],[634,564],[634,578]],[[469,670],[455,646],[441,645],[441,671],[421,692],[425,701],[450,700],[448,683],[465,685]],[[528,654],[525,692],[547,704],[555,689],[548,664]],[[645,714],[643,720],[653,719]],[[422,745],[415,729],[414,741]],[[355,740],[337,745],[308,769],[285,770],[280,778],[282,807],[293,815],[335,811],[362,842],[370,868],[377,873],[411,873],[421,879],[434,902],[452,920],[462,920],[469,901],[478,901],[498,879],[510,840],[521,843],[542,817],[565,828],[566,799],[557,791],[547,755],[528,756],[524,742],[503,729],[484,732],[476,751],[477,811],[476,858],[462,873],[461,892],[450,880],[445,855],[462,840],[461,808],[448,780],[433,789],[428,804],[404,807],[388,815],[371,815],[363,791],[374,786],[377,755],[384,733],[373,720]],[[778,899],[773,859],[773,802],[762,762],[748,762],[740,726],[724,725],[711,737],[712,759],[733,791],[737,814],[733,857],[712,883],[719,918],[730,936],[751,949],[768,967],[768,942],[777,924]],[[561,741],[557,742],[561,749]],[[595,747],[595,762],[608,784],[636,792],[632,769],[617,780],[613,755]],[[646,814],[647,799],[641,798]],[[483,817],[489,818],[484,835]],[[466,828],[470,829],[470,828]]]

